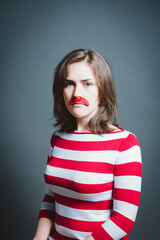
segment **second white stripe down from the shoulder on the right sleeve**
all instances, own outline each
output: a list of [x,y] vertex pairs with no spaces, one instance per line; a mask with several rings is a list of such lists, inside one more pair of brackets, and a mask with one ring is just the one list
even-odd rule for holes
[[114,187],[141,191],[141,177],[137,176],[118,176],[114,177]]

